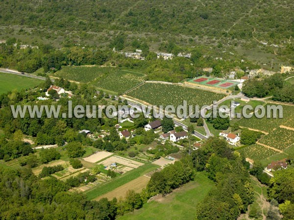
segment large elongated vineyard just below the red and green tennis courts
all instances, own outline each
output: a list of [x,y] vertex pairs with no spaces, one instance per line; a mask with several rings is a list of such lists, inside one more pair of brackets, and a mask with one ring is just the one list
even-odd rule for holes
[[211,105],[214,100],[225,97],[221,93],[162,83],[145,83],[126,95],[157,106],[178,106],[183,105],[183,100],[187,100],[188,105],[199,105],[200,107]]

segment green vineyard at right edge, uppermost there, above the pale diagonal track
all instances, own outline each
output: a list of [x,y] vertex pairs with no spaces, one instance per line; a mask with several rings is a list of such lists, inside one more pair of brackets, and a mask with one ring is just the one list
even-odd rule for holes
[[[267,106],[265,106],[265,109],[267,109],[266,107]],[[252,116],[251,118],[242,118],[238,123],[243,127],[257,129],[264,132],[271,132],[280,125],[294,128],[294,106],[282,105],[282,107],[283,118],[267,118],[266,116],[263,118],[256,118],[255,116]]]

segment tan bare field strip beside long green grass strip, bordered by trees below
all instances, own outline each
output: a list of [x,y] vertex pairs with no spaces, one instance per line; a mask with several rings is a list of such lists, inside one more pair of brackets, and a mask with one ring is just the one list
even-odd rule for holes
[[147,183],[149,181],[149,177],[147,176],[140,176],[118,188],[115,190],[104,194],[103,196],[95,198],[95,200],[100,200],[101,198],[108,198],[109,200],[113,198],[124,198],[126,195],[126,192],[128,190],[134,190],[136,193],[140,193],[143,188],[147,186]]

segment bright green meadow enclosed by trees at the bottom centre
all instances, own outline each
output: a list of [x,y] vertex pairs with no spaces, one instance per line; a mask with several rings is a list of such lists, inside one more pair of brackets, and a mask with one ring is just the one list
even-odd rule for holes
[[119,220],[194,220],[197,204],[202,202],[214,183],[204,173],[195,180],[167,195],[161,201],[145,203],[143,208],[118,218]]

